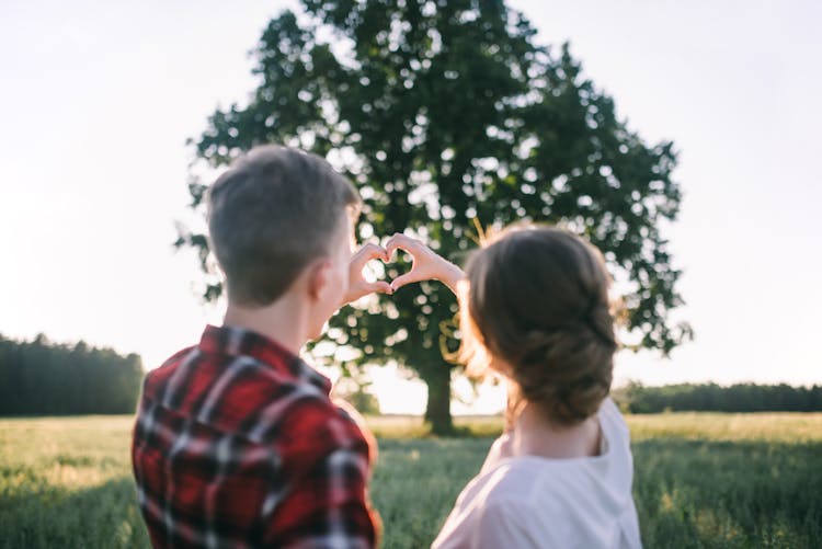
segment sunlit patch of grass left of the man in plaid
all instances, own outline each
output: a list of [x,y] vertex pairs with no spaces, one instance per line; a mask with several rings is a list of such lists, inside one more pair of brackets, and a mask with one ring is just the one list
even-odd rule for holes
[[130,478],[132,422],[0,421],[0,547],[150,547]]

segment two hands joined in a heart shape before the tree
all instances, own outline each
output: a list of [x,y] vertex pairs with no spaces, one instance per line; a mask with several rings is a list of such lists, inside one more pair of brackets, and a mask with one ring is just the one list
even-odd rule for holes
[[[363,277],[363,268],[373,260],[380,260],[385,264],[392,263],[391,258],[397,250],[402,250],[411,255],[411,270],[392,279],[367,282]],[[363,245],[351,259],[351,286],[355,295],[362,297],[373,291],[393,294],[399,288],[414,282],[427,281],[439,275],[437,266],[444,260],[433,252],[427,245],[407,235],[397,233],[388,239],[385,248],[368,243]]]

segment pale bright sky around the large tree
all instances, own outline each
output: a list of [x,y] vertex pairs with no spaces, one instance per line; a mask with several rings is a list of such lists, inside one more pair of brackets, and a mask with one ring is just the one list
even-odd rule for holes
[[[254,87],[248,53],[294,2],[0,2],[0,333],[84,340],[147,367],[196,342],[204,306],[186,179],[217,106]],[[674,141],[684,199],[665,233],[696,339],[621,353],[617,382],[822,382],[822,4],[511,1],[649,142]],[[385,412],[425,390],[374,370]],[[460,382],[459,387],[464,387]],[[483,387],[472,405],[502,407]]]

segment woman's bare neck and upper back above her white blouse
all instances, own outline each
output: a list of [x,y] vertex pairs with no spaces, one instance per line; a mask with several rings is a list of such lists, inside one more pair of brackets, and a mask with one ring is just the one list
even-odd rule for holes
[[514,456],[572,459],[600,455],[600,421],[593,415],[574,425],[560,425],[533,403],[526,403],[514,424]]

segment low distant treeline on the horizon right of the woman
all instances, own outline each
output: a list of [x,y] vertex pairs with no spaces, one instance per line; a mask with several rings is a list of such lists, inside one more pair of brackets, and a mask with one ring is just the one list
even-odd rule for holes
[[647,387],[630,382],[613,391],[630,413],[672,412],[822,412],[822,386],[681,384]]

